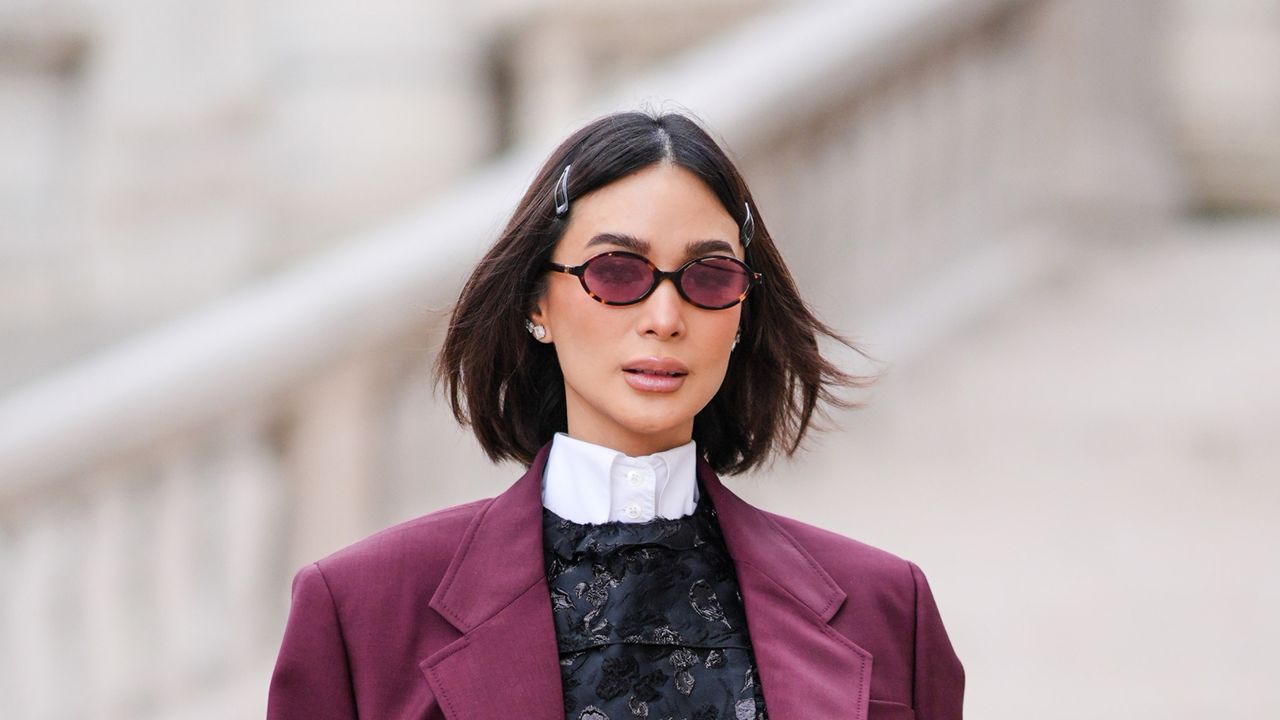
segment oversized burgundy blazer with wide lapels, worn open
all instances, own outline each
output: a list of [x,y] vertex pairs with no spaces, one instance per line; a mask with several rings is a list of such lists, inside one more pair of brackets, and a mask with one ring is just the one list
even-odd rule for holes
[[[502,495],[303,568],[269,720],[563,720],[543,566],[548,447]],[[914,564],[759,510],[699,461],[772,720],[960,720],[964,670]],[[625,720],[625,719],[614,719]]]

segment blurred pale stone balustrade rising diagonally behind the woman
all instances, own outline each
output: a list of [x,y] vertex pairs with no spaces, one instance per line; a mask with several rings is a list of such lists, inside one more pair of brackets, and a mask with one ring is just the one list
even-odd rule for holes
[[[1080,218],[1169,206],[1130,67],[1148,5],[1114,5],[799,4],[582,117],[698,111],[819,313],[900,359],[1100,236]],[[549,147],[0,400],[6,717],[259,716],[298,565],[515,477],[454,428],[430,363]]]

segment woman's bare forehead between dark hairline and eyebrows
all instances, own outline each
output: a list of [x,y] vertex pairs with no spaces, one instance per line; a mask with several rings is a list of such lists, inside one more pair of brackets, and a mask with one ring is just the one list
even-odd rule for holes
[[600,245],[602,234],[637,238],[654,259],[680,259],[705,241],[742,256],[737,222],[707,183],[678,165],[650,165],[575,199],[562,250],[585,258],[599,251],[589,246]]

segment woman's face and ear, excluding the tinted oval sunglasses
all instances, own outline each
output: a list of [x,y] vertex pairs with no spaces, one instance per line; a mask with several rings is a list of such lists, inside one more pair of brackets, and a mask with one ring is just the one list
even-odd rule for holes
[[[742,259],[739,227],[696,176],[650,165],[573,200],[552,259],[580,265],[611,250],[662,270],[692,258]],[[573,275],[550,273],[532,320],[564,374],[568,434],[640,456],[689,442],[694,415],[719,389],[742,306],[703,310],[663,281],[636,305],[595,301]],[[667,373],[676,372],[677,377]]]

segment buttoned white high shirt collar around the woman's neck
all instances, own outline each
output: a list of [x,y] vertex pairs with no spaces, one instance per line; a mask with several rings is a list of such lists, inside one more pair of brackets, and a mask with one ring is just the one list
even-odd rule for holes
[[575,523],[645,523],[691,515],[698,505],[692,441],[630,457],[556,433],[543,471],[543,506]]

